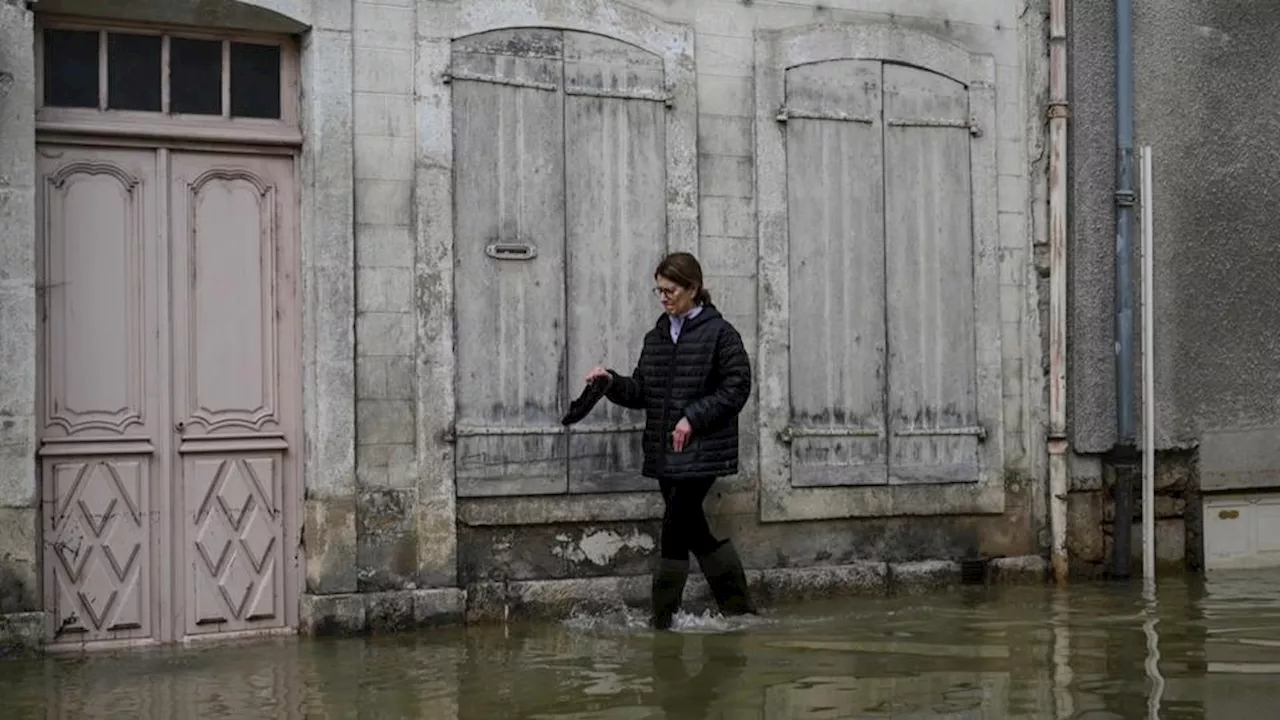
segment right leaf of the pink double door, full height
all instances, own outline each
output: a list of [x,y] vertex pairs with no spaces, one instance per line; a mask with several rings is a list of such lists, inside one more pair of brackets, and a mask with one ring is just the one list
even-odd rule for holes
[[293,160],[173,154],[179,626],[293,624]]

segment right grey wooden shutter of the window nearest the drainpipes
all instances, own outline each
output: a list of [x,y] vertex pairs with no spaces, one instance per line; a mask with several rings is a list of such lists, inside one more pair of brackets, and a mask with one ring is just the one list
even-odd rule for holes
[[884,65],[890,482],[977,482],[968,88]]

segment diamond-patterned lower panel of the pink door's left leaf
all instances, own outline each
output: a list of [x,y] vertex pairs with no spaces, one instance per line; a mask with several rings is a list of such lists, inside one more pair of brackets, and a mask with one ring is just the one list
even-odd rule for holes
[[54,632],[59,639],[150,635],[146,459],[49,460]]

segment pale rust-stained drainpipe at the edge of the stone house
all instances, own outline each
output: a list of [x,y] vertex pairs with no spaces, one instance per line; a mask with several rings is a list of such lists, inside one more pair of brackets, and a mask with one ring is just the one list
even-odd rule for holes
[[1053,579],[1066,584],[1066,0],[1048,10],[1048,484]]

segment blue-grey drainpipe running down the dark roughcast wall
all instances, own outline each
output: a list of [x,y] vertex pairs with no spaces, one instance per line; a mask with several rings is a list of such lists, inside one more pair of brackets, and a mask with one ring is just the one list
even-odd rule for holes
[[[1134,445],[1133,389],[1133,0],[1116,13],[1116,450]],[[1116,473],[1112,574],[1129,575],[1132,473]]]

